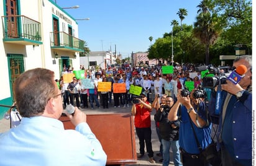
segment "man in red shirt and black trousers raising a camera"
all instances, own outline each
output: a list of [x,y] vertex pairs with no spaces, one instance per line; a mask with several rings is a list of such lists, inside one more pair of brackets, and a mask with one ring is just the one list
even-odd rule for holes
[[144,94],[140,94],[139,103],[133,103],[132,105],[132,115],[134,115],[134,124],[137,136],[139,138],[140,144],[140,154],[137,156],[138,159],[143,157],[145,154],[145,144],[147,152],[149,153],[149,162],[155,163],[153,159],[153,150],[151,143],[151,120],[150,113],[152,111],[151,104],[147,101],[147,97]]

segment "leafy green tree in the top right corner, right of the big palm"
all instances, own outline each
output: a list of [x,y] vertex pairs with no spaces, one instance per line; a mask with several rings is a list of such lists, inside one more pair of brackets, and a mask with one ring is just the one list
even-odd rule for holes
[[245,44],[247,53],[252,53],[252,1],[214,0],[214,4],[224,29],[221,37],[233,45]]

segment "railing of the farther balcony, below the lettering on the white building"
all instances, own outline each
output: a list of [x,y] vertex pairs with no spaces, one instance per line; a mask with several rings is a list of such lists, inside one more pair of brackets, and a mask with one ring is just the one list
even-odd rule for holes
[[65,32],[50,32],[50,42],[55,49],[84,51],[85,41]]

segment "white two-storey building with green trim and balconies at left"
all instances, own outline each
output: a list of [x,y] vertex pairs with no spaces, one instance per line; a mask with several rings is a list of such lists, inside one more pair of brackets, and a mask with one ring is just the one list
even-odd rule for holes
[[[55,1],[4,0],[0,9],[0,104],[12,105],[14,81],[24,71],[47,68],[60,79],[64,65],[80,68],[85,41],[76,20]],[[0,119],[7,109],[0,107]]]

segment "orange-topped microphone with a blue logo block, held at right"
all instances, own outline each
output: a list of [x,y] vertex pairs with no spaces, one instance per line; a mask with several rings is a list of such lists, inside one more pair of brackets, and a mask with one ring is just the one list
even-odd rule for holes
[[240,79],[244,77],[245,72],[247,72],[246,66],[244,66],[244,64],[240,64],[236,69],[234,69],[234,71],[231,72],[227,79],[233,82],[233,84],[237,84]]

